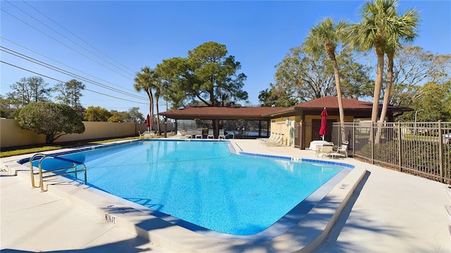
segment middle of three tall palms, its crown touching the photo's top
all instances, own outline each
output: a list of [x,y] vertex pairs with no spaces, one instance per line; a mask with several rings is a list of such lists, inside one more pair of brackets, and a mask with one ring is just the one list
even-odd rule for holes
[[374,85],[371,122],[378,118],[379,99],[383,77],[383,57],[386,40],[392,32],[393,20],[397,17],[397,0],[367,1],[362,7],[362,22],[350,26],[350,44],[359,51],[374,48],[378,58],[376,83]]

